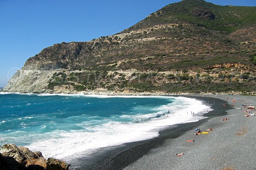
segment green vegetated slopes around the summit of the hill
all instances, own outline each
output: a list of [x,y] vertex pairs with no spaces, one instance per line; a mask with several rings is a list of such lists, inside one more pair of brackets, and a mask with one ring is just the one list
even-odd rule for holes
[[[206,19],[193,14],[197,9],[208,9],[214,14],[214,19]],[[152,13],[145,20],[131,27],[153,26],[164,23],[191,23],[204,28],[231,33],[243,26],[253,25],[256,20],[256,7],[247,6],[218,6],[204,0],[182,0],[169,4]]]

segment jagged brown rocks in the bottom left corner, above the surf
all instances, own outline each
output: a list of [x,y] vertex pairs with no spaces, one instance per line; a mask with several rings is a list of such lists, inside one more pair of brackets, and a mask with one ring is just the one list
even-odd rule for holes
[[0,148],[0,170],[68,170],[64,161],[45,159],[41,152],[32,152],[27,147],[4,144]]

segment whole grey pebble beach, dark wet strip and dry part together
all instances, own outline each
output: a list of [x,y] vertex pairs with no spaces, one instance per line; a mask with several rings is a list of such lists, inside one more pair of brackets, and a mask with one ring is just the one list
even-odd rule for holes
[[[117,95],[121,94],[112,96]],[[144,94],[144,96],[151,95]],[[159,95],[154,94],[154,96]],[[253,130],[253,125],[256,123],[256,116],[245,117],[243,113],[244,109],[241,110],[243,100],[247,101],[248,104],[256,105],[255,96],[230,94],[164,96],[183,96],[198,99],[203,101],[205,105],[211,105],[213,111],[205,113],[204,116],[208,118],[201,119],[198,122],[178,124],[161,130],[159,132],[160,135],[153,139],[101,148],[102,150],[99,149],[99,153],[96,153],[96,155],[98,154],[96,159],[83,159],[83,157],[70,159],[67,161],[71,163],[70,168],[75,168],[76,170],[236,170],[253,169],[256,167],[256,163],[249,163],[248,161],[248,158],[253,158],[251,149],[254,147],[253,141],[256,140],[256,137],[252,134],[256,132],[256,130]],[[232,101],[233,98],[237,101],[234,104]],[[227,107],[224,107],[224,104],[227,104]],[[221,119],[225,117],[229,120],[222,121]],[[195,136],[193,134],[195,133],[195,127],[199,127],[204,131],[212,127],[214,130],[210,131],[207,135]],[[186,140],[195,140],[195,142],[186,142]],[[184,155],[176,157],[176,153],[184,153]],[[195,157],[200,159],[200,163],[196,163]],[[88,163],[88,161],[92,161],[92,163]]]

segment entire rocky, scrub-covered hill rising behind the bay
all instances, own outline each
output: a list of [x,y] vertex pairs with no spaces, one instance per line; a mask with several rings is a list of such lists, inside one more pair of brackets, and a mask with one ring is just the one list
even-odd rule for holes
[[43,49],[3,90],[252,92],[255,11],[204,0],[169,4],[118,34]]

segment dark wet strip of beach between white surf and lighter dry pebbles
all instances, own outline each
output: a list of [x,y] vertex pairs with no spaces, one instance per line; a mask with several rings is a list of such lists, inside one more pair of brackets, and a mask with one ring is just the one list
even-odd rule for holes
[[[96,156],[96,158],[93,158],[93,159],[88,159],[88,157],[86,158],[82,157],[76,160],[71,160],[71,162],[73,161],[73,165],[71,166],[71,168],[75,167],[76,169],[83,169],[83,170],[84,169],[119,170],[127,166],[129,167],[130,164],[132,164],[133,162],[136,162],[138,159],[147,155],[148,153],[151,152],[151,150],[154,150],[163,146],[166,140],[178,138],[183,133],[189,130],[193,130],[196,126],[201,125],[204,122],[207,122],[207,120],[212,117],[225,115],[226,114],[225,111],[231,109],[231,107],[229,106],[227,106],[226,108],[223,108],[222,104],[224,101],[221,99],[214,99],[214,98],[209,98],[201,95],[189,95],[189,96],[175,95],[175,97],[177,96],[183,96],[183,97],[201,100],[204,102],[205,105],[211,105],[213,108],[213,111],[209,111],[208,113],[205,113],[204,116],[207,116],[208,118],[201,119],[198,122],[172,125],[164,130],[160,130],[159,132],[160,135],[156,138],[139,141],[139,142],[125,143],[116,147],[102,148],[103,152],[100,152],[100,154],[98,154],[99,156],[98,157]],[[88,164],[87,162],[88,160],[93,163]]]

